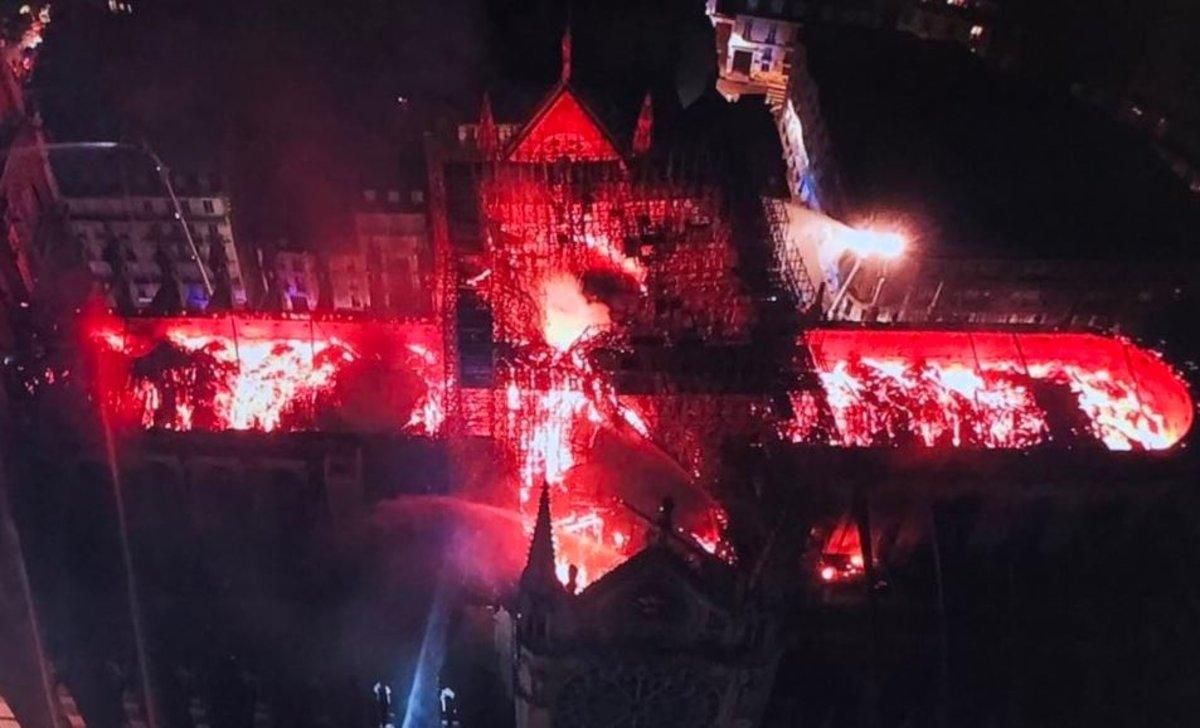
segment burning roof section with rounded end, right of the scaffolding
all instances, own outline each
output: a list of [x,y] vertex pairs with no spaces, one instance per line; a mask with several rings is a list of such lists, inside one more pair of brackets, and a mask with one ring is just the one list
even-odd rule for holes
[[1021,449],[1094,438],[1164,450],[1190,428],[1186,385],[1159,357],[1084,333],[809,332],[821,396],[793,392],[793,441]]

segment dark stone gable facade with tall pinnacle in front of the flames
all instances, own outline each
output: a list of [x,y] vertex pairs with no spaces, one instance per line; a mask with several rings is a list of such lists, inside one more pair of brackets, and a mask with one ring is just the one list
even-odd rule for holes
[[518,728],[756,726],[773,627],[726,564],[671,524],[578,594],[554,576],[542,488],[514,630]]

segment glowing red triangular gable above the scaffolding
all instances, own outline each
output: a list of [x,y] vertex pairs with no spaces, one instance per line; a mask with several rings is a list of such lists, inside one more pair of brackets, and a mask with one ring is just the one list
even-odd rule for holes
[[509,158],[514,162],[610,162],[617,145],[595,115],[565,83],[558,84],[521,130]]

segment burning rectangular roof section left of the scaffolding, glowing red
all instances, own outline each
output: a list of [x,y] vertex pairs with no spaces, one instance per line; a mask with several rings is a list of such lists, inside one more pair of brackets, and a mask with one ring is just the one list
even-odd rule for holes
[[89,338],[104,402],[148,429],[436,434],[445,416],[440,337],[428,325],[132,319],[97,321]]

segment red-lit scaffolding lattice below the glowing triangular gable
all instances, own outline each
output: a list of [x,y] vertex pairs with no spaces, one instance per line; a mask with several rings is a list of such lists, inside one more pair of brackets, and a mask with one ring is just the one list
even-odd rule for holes
[[493,162],[480,198],[498,341],[536,339],[539,284],[556,273],[607,295],[626,338],[746,338],[754,307],[725,200],[701,164]]

